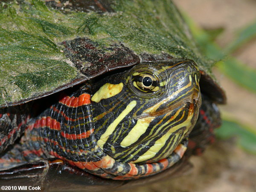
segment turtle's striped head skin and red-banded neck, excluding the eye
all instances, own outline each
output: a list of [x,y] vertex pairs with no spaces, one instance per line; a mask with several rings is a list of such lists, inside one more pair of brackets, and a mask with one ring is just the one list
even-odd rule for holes
[[[154,78],[154,87],[140,87],[143,74]],[[173,59],[89,81],[30,119],[20,161],[57,157],[122,180],[163,171],[186,151],[201,105],[199,79],[193,61]]]

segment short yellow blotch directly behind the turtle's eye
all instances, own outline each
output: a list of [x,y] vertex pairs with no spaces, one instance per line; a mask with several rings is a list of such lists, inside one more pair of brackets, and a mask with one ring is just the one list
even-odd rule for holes
[[108,99],[120,93],[122,91],[124,84],[110,84],[106,83],[92,96],[92,101],[100,102],[102,99]]

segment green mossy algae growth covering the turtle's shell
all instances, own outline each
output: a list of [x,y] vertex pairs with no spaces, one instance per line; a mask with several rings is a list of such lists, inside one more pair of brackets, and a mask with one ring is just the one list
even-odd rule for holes
[[210,73],[171,0],[116,0],[114,12],[62,12],[41,0],[0,5],[0,105],[50,92],[81,78],[60,43],[77,37],[101,49],[122,43],[136,54],[168,53]]

